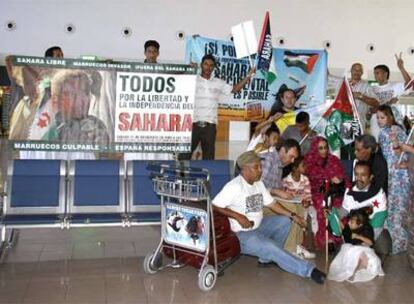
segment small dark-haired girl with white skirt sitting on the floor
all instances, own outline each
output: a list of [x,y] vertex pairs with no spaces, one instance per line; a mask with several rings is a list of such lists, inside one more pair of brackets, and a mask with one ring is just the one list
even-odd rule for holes
[[366,282],[383,276],[381,261],[371,248],[374,230],[365,211],[352,210],[348,224],[341,223],[345,244],[329,268],[328,279],[333,281]]

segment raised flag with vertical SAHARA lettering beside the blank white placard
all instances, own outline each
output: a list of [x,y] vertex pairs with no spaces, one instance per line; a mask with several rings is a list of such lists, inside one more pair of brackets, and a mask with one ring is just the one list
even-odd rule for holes
[[272,33],[270,31],[269,12],[266,12],[262,34],[259,41],[259,49],[257,50],[257,70],[263,74],[263,77],[269,84],[272,84],[272,82],[276,80],[275,66],[272,61],[272,52]]

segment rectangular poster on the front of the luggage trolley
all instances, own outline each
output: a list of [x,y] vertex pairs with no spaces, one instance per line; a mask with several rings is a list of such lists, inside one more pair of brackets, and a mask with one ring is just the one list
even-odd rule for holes
[[204,252],[208,245],[207,211],[178,204],[164,205],[164,240],[187,249]]

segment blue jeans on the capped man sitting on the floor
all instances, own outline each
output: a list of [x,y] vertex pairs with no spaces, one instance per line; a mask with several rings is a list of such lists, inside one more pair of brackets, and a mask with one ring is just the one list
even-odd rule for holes
[[265,216],[257,229],[237,233],[241,253],[256,256],[260,262],[274,262],[298,276],[310,277],[315,265],[283,249],[290,225],[291,221],[286,216]]

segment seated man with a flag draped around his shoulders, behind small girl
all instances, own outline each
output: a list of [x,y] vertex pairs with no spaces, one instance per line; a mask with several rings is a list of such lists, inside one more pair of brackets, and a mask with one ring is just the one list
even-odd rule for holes
[[[356,178],[355,185],[352,187],[351,191],[355,192],[367,192],[373,183],[374,176],[371,172],[370,163],[366,161],[358,161],[355,164],[354,175]],[[372,228],[374,228],[374,239],[375,251],[378,256],[383,261],[384,258],[391,251],[391,239],[387,231],[384,231],[384,223],[387,218],[387,197],[385,192],[380,189],[374,196],[369,199],[358,202],[352,195],[349,194],[350,190],[345,191],[344,200],[342,202],[342,208],[340,210],[333,210],[333,215],[330,216],[330,225],[335,235],[340,235],[337,225],[335,225],[334,214],[336,212],[337,216],[344,217],[348,215],[352,210],[369,208],[372,211],[369,213],[369,222]]]

